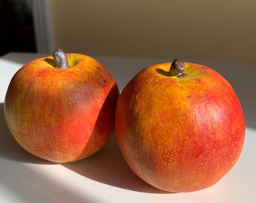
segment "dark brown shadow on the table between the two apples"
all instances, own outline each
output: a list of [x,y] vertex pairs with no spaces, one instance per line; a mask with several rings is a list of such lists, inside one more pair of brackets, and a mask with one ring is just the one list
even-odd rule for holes
[[79,162],[62,165],[84,177],[111,186],[137,192],[170,193],[150,186],[131,171],[123,159],[115,135],[108,141],[108,144],[95,155]]

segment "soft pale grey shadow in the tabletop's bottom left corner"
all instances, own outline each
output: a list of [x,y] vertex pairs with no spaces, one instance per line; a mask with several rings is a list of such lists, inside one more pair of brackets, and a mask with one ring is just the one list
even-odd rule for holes
[[65,180],[59,180],[47,174],[47,171],[42,173],[30,165],[5,162],[0,171],[0,195],[4,194],[1,196],[1,202],[99,203],[93,198],[93,194],[86,190],[78,192]]

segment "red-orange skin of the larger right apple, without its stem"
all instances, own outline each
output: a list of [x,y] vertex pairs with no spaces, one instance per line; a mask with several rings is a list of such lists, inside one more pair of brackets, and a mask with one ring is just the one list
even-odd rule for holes
[[235,165],[245,139],[242,107],[216,71],[185,62],[184,77],[171,63],[151,65],[117,100],[116,133],[130,168],[169,192],[214,185]]

